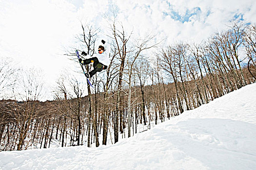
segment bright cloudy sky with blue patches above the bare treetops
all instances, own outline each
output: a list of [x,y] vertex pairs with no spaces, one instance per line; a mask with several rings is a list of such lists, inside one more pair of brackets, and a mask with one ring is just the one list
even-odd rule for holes
[[232,20],[256,21],[255,0],[0,0],[0,56],[41,69],[54,85],[63,70],[77,69],[63,49],[77,46],[80,22],[105,35],[113,8],[127,33],[157,34],[166,44],[201,42]]

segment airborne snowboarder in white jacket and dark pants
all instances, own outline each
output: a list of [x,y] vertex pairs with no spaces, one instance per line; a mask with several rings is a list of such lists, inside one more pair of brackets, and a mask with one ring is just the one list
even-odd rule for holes
[[[110,46],[106,41],[101,40],[102,45],[98,46],[98,53],[94,55],[92,58],[88,58],[85,60],[82,60],[79,58],[79,62],[83,65],[88,65],[90,63],[93,63],[93,70],[88,73],[85,73],[85,76],[87,78],[92,77],[96,72],[100,72],[103,69],[107,69],[107,67],[110,64],[109,60],[109,53],[110,53]],[[87,55],[84,51],[81,53],[82,55]]]

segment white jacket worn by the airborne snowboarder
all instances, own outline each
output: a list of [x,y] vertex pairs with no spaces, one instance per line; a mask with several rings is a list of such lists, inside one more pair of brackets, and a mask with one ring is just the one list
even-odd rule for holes
[[110,60],[109,60],[109,54],[110,54],[110,45],[105,42],[105,44],[100,44],[101,46],[104,47],[105,51],[103,51],[101,54],[98,53],[98,46],[97,46],[97,52],[93,55],[93,57],[98,58],[98,62],[102,63],[105,66],[110,65]]

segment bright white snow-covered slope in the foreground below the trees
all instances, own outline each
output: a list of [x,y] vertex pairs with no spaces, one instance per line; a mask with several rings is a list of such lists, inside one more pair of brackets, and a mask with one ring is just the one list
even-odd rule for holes
[[115,145],[0,153],[0,170],[256,170],[256,84]]

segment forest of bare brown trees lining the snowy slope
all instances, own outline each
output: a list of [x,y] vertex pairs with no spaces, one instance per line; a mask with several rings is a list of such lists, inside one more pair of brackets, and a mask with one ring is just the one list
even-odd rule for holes
[[[0,151],[114,144],[256,82],[255,25],[233,23],[200,44],[160,46],[156,35],[135,37],[110,23],[111,64],[91,78],[95,88],[63,74],[55,100],[39,102],[40,71],[0,63]],[[90,56],[98,32],[81,23],[77,39]],[[79,65],[74,49],[65,57]]]

